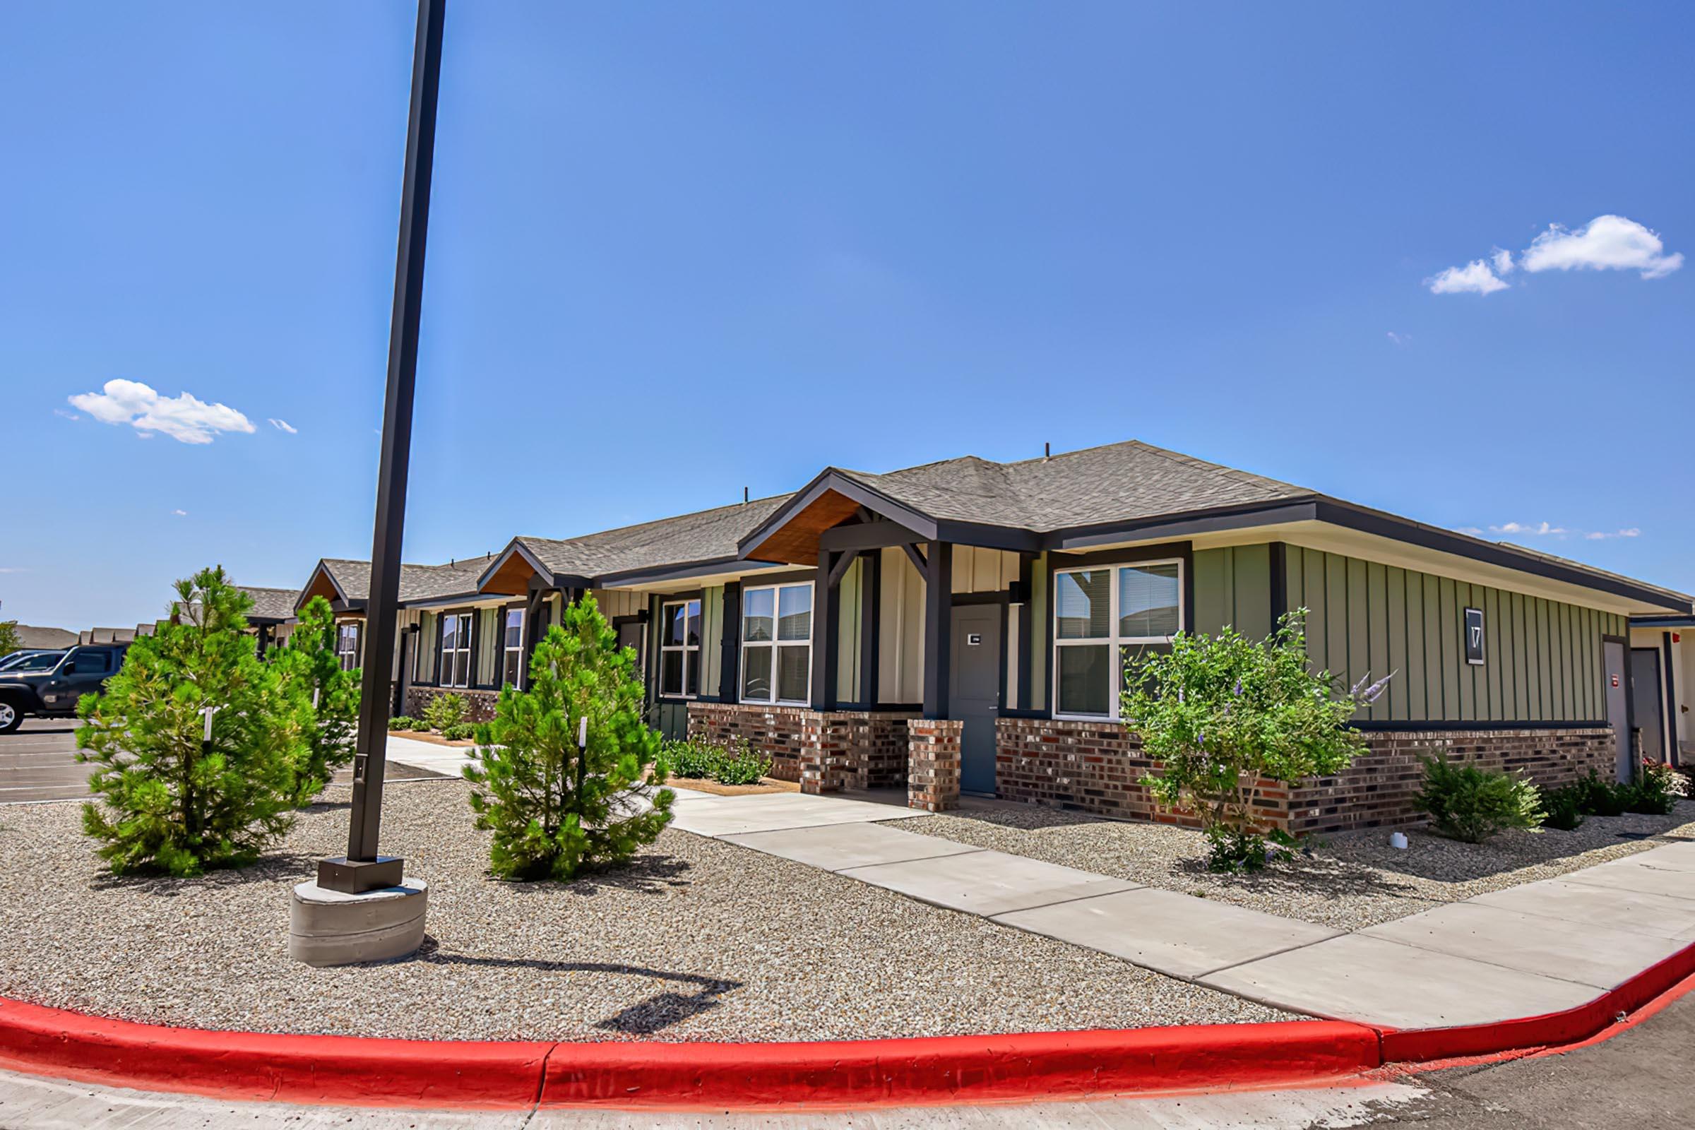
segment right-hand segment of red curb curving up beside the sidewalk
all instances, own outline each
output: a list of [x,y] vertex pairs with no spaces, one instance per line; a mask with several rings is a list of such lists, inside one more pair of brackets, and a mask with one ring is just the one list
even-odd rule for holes
[[1492,1055],[1495,1052],[1558,1047],[1576,1044],[1603,1032],[1620,1015],[1629,1015],[1695,974],[1695,945],[1688,945],[1656,966],[1649,966],[1615,989],[1587,1005],[1542,1016],[1520,1016],[1495,1023],[1456,1028],[1415,1028],[1400,1032],[1381,1028],[1383,1062],[1427,1062]]

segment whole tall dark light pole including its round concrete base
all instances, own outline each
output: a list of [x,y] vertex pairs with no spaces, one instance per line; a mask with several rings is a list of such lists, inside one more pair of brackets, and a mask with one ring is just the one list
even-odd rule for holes
[[[388,391],[371,535],[371,591],[364,605],[359,676],[359,732],[353,761],[347,854],[319,861],[317,883],[295,888],[290,954],[312,964],[344,964],[410,954],[424,939],[427,889],[405,879],[405,861],[380,856],[383,756],[388,742],[388,673],[400,605],[400,539],[407,513],[412,451],[412,386],[424,305],[424,242],[429,232],[431,166],[436,156],[436,97],[441,88],[441,32],[446,0],[419,0],[412,47],[412,108],[400,190],[400,247],[395,307],[388,325]],[[373,928],[375,927],[375,928]]]

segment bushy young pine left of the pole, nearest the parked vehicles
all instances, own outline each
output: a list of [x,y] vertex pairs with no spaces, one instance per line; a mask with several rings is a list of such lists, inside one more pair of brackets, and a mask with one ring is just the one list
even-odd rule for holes
[[[254,654],[251,600],[222,568],[176,583],[178,623],[137,639],[83,698],[76,759],[97,767],[83,830],[114,871],[198,874],[258,859],[293,822],[312,703]],[[205,708],[212,740],[202,749]]]

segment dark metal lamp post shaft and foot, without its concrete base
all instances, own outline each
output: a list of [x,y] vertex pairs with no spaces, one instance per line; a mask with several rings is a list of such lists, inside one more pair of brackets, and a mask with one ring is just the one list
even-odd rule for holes
[[383,400],[383,456],[376,479],[371,537],[371,591],[364,605],[366,644],[359,676],[359,739],[353,762],[353,822],[347,857],[319,864],[319,884],[371,891],[402,878],[402,861],[376,854],[383,808],[383,752],[388,742],[388,674],[400,605],[400,539],[407,515],[407,464],[412,451],[412,386],[419,363],[424,305],[424,241],[429,230],[431,166],[436,156],[436,95],[441,88],[441,30],[446,0],[419,0],[412,47],[412,112],[407,168],[400,190],[400,249],[395,256],[395,310],[388,325],[388,391]]

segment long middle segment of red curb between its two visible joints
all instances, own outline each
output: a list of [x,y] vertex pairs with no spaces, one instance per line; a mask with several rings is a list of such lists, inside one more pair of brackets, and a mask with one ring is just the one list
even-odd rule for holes
[[1380,1064],[1334,1020],[820,1044],[561,1044],[544,1106],[825,1108],[1334,1083]]

